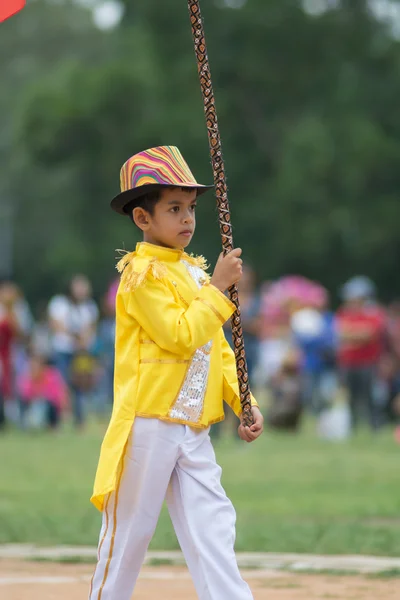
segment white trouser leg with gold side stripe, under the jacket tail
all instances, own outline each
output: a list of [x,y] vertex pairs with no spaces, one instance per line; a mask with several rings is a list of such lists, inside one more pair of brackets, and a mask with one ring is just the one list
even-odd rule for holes
[[130,600],[184,436],[183,425],[135,420],[122,477],[106,500],[89,600]]

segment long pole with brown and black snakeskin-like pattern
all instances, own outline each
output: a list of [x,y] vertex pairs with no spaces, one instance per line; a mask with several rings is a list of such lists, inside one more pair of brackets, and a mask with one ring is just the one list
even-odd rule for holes
[[[207,122],[208,141],[210,145],[211,163],[214,173],[214,184],[217,197],[222,247],[224,254],[227,254],[233,250],[232,224],[229,210],[224,160],[222,158],[221,138],[218,129],[211,72],[207,56],[206,40],[204,36],[204,26],[201,18],[199,0],[188,0],[188,6],[190,21],[192,24],[194,49],[197,58],[197,69],[204,102],[204,112]],[[251,413],[249,376],[247,372],[246,355],[244,351],[239,295],[236,285],[233,285],[231,288],[229,288],[229,297],[236,306],[236,311],[231,318],[231,324],[232,339],[235,348],[236,369],[239,381],[240,403],[243,410],[242,422],[244,425],[250,426],[253,424],[253,415]]]

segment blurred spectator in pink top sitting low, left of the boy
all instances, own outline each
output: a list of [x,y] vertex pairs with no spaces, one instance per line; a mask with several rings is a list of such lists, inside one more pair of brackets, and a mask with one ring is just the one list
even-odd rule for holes
[[33,354],[17,382],[22,423],[27,428],[56,429],[68,403],[67,387],[60,372]]

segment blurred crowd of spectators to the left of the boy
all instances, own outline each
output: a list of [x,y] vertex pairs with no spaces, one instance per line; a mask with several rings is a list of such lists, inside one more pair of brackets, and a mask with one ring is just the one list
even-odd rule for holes
[[0,284],[0,426],[56,429],[112,405],[117,282],[100,306],[84,275],[72,278],[34,316],[21,289]]

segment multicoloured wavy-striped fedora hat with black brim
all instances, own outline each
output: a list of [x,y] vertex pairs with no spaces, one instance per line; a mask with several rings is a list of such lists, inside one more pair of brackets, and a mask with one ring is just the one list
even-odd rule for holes
[[195,180],[188,164],[176,146],[158,146],[135,154],[121,169],[121,193],[111,201],[111,208],[126,215],[125,207],[135,207],[140,198],[160,186],[196,188],[202,194],[213,185]]

